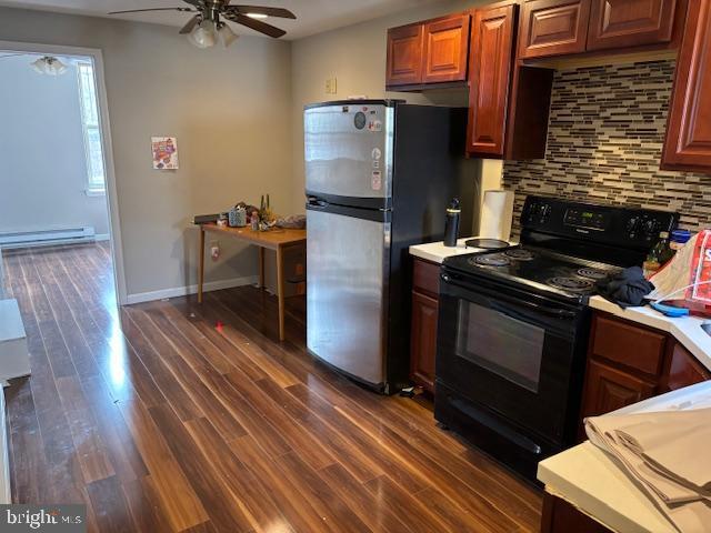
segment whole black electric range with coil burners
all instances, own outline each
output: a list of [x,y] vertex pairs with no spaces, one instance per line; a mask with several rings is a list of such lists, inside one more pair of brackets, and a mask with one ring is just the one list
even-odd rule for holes
[[679,217],[529,197],[521,243],[441,269],[434,416],[519,471],[574,443],[594,282]]

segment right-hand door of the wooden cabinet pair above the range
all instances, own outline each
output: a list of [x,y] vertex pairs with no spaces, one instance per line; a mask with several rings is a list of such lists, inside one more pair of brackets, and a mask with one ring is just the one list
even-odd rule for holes
[[588,50],[671,41],[677,0],[592,0]]

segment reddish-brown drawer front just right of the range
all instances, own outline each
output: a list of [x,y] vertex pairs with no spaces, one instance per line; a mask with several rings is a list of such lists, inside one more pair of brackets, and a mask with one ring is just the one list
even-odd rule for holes
[[592,353],[640,372],[659,375],[664,335],[625,322],[595,316]]

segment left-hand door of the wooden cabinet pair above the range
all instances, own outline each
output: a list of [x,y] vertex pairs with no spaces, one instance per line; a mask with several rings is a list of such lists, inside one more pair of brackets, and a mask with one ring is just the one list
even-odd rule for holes
[[530,0],[519,33],[522,59],[585,51],[590,0]]

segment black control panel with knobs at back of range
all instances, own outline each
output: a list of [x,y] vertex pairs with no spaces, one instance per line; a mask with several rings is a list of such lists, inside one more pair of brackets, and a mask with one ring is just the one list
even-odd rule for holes
[[528,197],[521,213],[523,231],[639,249],[654,245],[659,233],[671,231],[678,222],[679,214],[667,211],[545,197]]

